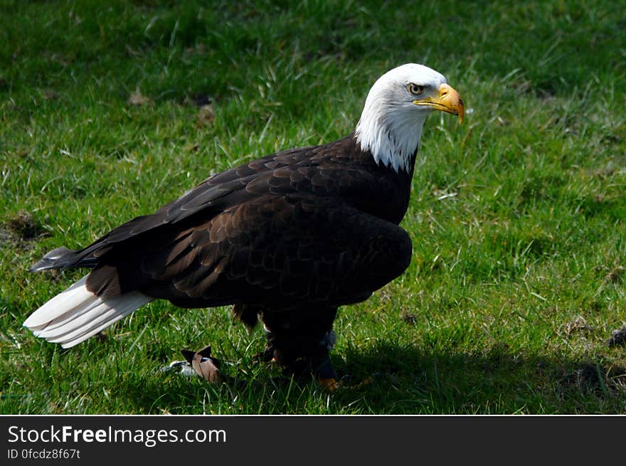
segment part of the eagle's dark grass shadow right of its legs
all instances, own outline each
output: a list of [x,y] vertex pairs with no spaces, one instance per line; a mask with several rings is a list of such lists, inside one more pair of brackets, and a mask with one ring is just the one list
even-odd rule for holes
[[626,402],[622,367],[601,361],[512,354],[428,352],[379,344],[346,351],[343,369],[356,379],[371,413],[621,413]]

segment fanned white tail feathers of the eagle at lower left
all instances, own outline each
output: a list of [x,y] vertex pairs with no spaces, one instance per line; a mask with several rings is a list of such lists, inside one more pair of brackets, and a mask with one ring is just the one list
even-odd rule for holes
[[70,348],[152,301],[140,292],[102,298],[87,290],[85,277],[37,309],[23,323],[37,337]]

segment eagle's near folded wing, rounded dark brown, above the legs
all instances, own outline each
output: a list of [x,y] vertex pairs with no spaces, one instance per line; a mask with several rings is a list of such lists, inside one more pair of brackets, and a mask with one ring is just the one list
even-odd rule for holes
[[410,251],[401,228],[331,196],[267,194],[116,248],[87,286],[99,295],[140,290],[181,307],[339,306],[393,280]]

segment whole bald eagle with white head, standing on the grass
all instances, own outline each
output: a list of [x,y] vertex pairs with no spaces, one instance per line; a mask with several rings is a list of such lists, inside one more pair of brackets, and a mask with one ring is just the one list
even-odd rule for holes
[[233,305],[265,327],[265,354],[287,374],[335,385],[329,359],[337,308],[402,274],[412,245],[398,224],[433,110],[464,114],[443,75],[409,63],[369,91],[354,132],[223,171],[159,211],[80,250],[56,248],[32,271],[90,272],[26,319],[69,348],[152,300]]

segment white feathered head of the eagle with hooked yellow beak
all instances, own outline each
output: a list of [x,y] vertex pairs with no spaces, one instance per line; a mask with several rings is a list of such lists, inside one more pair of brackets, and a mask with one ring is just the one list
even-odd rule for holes
[[458,115],[459,122],[465,113],[460,95],[444,75],[416,63],[398,66],[371,87],[356,140],[377,164],[409,171],[426,115],[433,110]]

